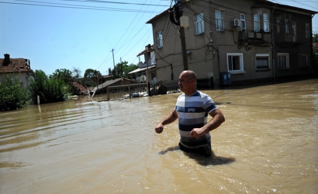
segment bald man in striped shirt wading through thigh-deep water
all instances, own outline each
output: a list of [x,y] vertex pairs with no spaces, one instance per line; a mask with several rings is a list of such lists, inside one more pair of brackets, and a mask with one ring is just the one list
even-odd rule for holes
[[[179,96],[175,109],[161,120],[155,131],[162,133],[164,125],[178,118],[180,149],[210,157],[213,156],[210,131],[225,122],[225,118],[210,96],[197,90],[196,82],[197,76],[193,71],[186,70],[180,74],[178,85],[183,94]],[[208,114],[213,117],[209,123]]]

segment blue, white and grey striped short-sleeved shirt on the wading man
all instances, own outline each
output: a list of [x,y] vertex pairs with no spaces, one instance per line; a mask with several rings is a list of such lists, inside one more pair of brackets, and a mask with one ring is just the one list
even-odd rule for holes
[[210,132],[199,139],[190,136],[194,128],[201,128],[208,122],[208,114],[217,109],[208,94],[196,91],[191,95],[179,96],[175,107],[179,120],[180,143],[182,146],[195,149],[211,143]]

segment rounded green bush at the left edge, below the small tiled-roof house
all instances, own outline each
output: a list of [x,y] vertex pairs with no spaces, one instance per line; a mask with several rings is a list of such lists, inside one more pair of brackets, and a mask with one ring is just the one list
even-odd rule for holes
[[27,90],[18,76],[6,75],[0,82],[0,110],[16,110],[28,102]]

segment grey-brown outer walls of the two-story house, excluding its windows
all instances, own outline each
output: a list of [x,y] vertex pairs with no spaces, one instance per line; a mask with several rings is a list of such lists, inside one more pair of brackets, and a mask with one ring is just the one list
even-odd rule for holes
[[[186,4],[186,5],[185,5]],[[185,28],[187,61],[189,70],[193,70],[198,78],[213,77],[215,86],[220,84],[220,73],[230,72],[232,82],[251,80],[271,80],[273,77],[284,77],[292,75],[310,74],[311,67],[300,68],[299,61],[301,53],[309,55],[311,60],[310,39],[304,39],[304,23],[311,23],[309,13],[295,11],[292,9],[273,9],[271,4],[262,1],[241,0],[241,1],[218,1],[208,3],[206,1],[192,0],[183,4],[183,15],[189,18],[189,27]],[[190,9],[189,9],[190,7]],[[192,11],[194,10],[195,13]],[[218,31],[215,25],[215,10],[223,11],[224,30]],[[273,12],[274,10],[274,12]],[[195,14],[204,14],[204,33],[196,34]],[[240,13],[245,15],[246,33],[254,33],[254,14],[260,16],[260,40],[241,39],[241,27],[232,27],[233,19],[239,19]],[[264,32],[263,14],[268,15],[269,31]],[[292,43],[292,36],[275,33],[272,29],[275,18],[278,16],[288,16],[292,22],[297,24],[297,41]],[[181,52],[180,33],[176,26],[169,21],[168,12],[151,21],[153,25],[154,49],[159,53],[157,57],[157,80],[178,79],[183,71],[183,61]],[[167,27],[168,25],[168,27]],[[311,29],[311,27],[310,27]],[[158,48],[157,33],[162,31],[163,47]],[[212,32],[212,36],[210,36]],[[273,33],[273,34],[272,34]],[[274,36],[274,42],[272,41]],[[311,35],[310,35],[311,36]],[[213,43],[210,43],[212,38]],[[287,45],[285,44],[287,42]],[[276,44],[278,43],[278,44]],[[274,44],[274,47],[273,47]],[[273,55],[274,53],[274,55]],[[277,53],[289,53],[289,69],[279,69]],[[231,71],[228,64],[227,54],[242,55],[243,67],[240,70]],[[256,55],[268,55],[269,66],[264,70],[256,69]],[[172,64],[172,67],[171,65]],[[275,68],[275,74],[274,74]],[[173,76],[171,76],[173,74]]]

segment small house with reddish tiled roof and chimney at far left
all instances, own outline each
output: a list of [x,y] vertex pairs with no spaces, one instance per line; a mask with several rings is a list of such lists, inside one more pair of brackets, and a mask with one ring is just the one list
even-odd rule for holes
[[8,74],[18,76],[23,85],[28,85],[29,77],[34,75],[30,67],[29,59],[11,59],[9,54],[5,54],[4,59],[0,59],[0,80],[3,80]]

